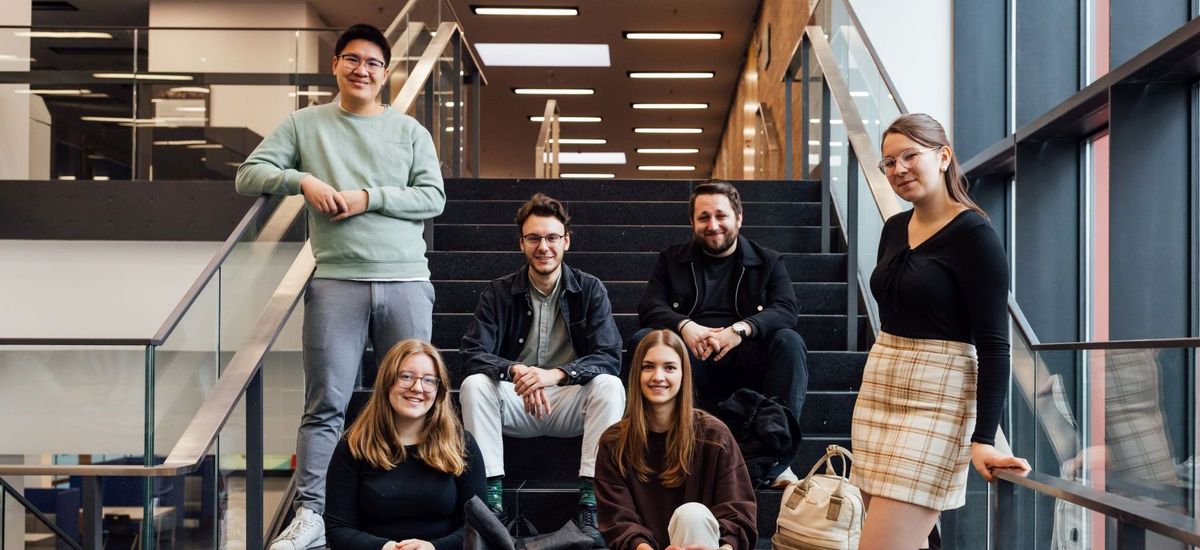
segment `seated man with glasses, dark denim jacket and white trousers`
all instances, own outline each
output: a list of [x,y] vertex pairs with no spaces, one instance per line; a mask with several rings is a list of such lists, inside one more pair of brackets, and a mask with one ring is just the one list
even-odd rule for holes
[[[487,506],[504,515],[504,438],[583,435],[580,528],[598,545],[596,446],[620,420],[625,389],[620,334],[599,279],[563,263],[571,247],[566,208],[534,195],[517,210],[527,265],[490,282],[462,337],[462,417],[487,470]],[[554,458],[530,458],[554,460]]]

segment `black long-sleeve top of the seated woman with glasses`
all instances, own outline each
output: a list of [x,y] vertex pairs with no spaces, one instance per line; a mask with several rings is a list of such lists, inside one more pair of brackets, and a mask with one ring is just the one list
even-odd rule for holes
[[406,446],[407,459],[379,470],[350,454],[342,440],[329,462],[325,534],[332,550],[379,550],[389,540],[421,539],[437,550],[461,550],[463,506],[484,498],[487,482],[475,438],[467,438],[467,470],[460,477],[434,470]]

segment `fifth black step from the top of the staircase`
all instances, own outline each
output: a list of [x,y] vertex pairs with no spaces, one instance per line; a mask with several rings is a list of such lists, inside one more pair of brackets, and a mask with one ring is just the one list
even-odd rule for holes
[[[644,281],[605,281],[608,301],[614,313],[636,313],[637,304],[646,293]],[[433,281],[438,313],[466,313],[475,311],[479,293],[487,281]],[[799,310],[806,313],[844,313],[846,311],[845,282],[796,282],[792,283]]]

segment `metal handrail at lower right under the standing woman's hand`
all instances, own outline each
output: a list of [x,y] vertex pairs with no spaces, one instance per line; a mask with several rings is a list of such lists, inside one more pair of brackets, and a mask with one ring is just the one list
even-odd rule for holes
[[[1081,506],[1093,512],[1098,512],[1110,518],[1116,518],[1118,537],[1136,537],[1138,533],[1126,531],[1129,526],[1142,531],[1153,531],[1174,540],[1180,540],[1189,545],[1200,545],[1200,520],[1174,512],[1153,507],[1141,501],[1136,501],[1121,495],[1092,489],[1086,485],[1072,483],[1062,478],[1048,476],[1040,472],[1019,472],[1015,470],[996,470],[997,482],[997,512],[1002,515],[1015,516],[1016,502],[1014,489],[1016,485],[1032,489],[1039,494],[1049,495],[1054,498],[1067,501]],[[1004,526],[1002,518],[1000,528],[996,530],[998,542],[997,549],[1016,548],[1015,528]],[[1015,520],[1013,520],[1015,521]],[[1144,532],[1141,533],[1144,534]],[[1122,537],[1123,538],[1123,537]],[[1006,540],[1007,539],[1007,540]]]

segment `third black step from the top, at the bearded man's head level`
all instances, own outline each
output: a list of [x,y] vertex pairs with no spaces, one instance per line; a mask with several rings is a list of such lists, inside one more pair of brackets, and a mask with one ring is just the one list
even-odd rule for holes
[[[438,250],[512,250],[511,229],[508,225],[436,223],[433,244]],[[575,226],[571,232],[571,246],[598,252],[658,252],[691,238],[691,226]],[[838,232],[829,229],[832,243],[839,241]],[[745,227],[742,234],[779,252],[821,251],[821,227]]]

